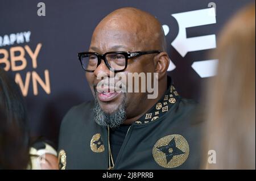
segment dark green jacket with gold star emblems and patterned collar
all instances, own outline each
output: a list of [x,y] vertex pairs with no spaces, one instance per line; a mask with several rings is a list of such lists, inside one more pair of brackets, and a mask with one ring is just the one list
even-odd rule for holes
[[[95,123],[92,108],[92,102],[83,103],[64,117],[60,169],[108,169],[108,129]],[[170,86],[163,98],[131,125],[114,169],[200,169],[200,119],[196,103],[181,99]]]

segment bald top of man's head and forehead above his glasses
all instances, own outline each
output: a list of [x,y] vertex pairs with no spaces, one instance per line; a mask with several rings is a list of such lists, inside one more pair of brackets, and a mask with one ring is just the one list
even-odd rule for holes
[[115,10],[95,28],[90,49],[150,49],[159,43],[161,27],[158,20],[147,12],[133,8]]

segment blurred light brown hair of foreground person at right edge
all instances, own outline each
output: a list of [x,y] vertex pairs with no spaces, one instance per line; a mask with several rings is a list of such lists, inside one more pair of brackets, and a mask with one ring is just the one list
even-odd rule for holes
[[234,15],[218,40],[205,130],[216,163],[207,169],[255,169],[255,4]]

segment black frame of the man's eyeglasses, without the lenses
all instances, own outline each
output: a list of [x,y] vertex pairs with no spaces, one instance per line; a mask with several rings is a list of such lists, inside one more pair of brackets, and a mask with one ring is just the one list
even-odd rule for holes
[[122,52],[122,51],[117,51],[117,52],[106,52],[105,54],[99,54],[97,52],[81,52],[81,53],[78,53],[78,57],[79,57],[81,65],[82,65],[82,69],[84,69],[85,71],[88,71],[88,72],[94,72],[94,70],[86,70],[84,65],[82,64],[82,56],[84,54],[94,54],[94,55],[97,56],[98,63],[97,63],[96,69],[101,64],[101,60],[104,60],[106,66],[109,68],[109,70],[111,69],[111,66],[109,65],[108,61],[106,61],[106,56],[108,54],[112,54],[112,53],[122,54],[123,56],[125,56],[125,68],[123,68],[122,70],[114,70],[114,73],[117,73],[117,72],[123,71],[127,68],[127,62],[128,62],[129,58],[139,57],[139,56],[142,56],[144,54],[153,54],[153,53],[161,53],[161,52],[162,51],[160,51],[160,50],[151,50],[151,51],[144,51],[144,52]]

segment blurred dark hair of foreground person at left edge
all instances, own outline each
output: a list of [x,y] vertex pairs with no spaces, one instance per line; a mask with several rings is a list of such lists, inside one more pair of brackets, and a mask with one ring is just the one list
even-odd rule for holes
[[30,162],[26,112],[19,87],[0,68],[0,169],[26,169]]

